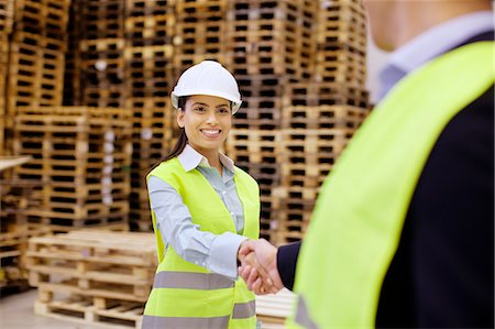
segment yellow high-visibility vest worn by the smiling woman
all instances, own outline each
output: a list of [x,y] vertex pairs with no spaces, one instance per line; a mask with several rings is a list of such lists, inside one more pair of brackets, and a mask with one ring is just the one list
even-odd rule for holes
[[[177,157],[162,163],[150,176],[156,176],[182,196],[195,224],[213,234],[235,233],[228,209],[202,174],[186,172]],[[235,188],[244,209],[244,237],[260,233],[260,191],[257,183],[235,167]],[[152,211],[153,212],[153,211]],[[180,257],[172,246],[165,254],[162,234],[156,228],[160,265],[146,303],[143,328],[255,328],[254,294],[242,278],[232,281]]]

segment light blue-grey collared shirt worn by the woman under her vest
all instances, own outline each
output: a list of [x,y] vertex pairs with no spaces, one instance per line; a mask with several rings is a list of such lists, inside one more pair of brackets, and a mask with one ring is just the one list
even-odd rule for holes
[[162,233],[165,246],[172,245],[186,261],[198,264],[211,272],[226,275],[232,279],[238,276],[238,249],[244,230],[244,212],[239,199],[232,160],[220,153],[222,176],[208,160],[190,145],[186,145],[178,156],[186,172],[198,169],[211,184],[229,210],[238,234],[224,232],[216,235],[200,231],[193,223],[189,209],[174,187],[158,177],[152,176],[147,182],[151,207],[156,216],[156,224]]

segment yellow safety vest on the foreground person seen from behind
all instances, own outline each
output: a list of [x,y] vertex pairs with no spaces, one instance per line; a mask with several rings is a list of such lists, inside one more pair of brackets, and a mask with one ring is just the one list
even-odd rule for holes
[[495,80],[494,43],[433,59],[394,88],[323,183],[296,271],[289,328],[372,328],[426,161],[440,133]]

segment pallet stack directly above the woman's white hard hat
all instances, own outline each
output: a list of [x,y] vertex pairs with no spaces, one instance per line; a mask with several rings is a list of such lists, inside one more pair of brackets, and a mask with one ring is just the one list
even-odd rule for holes
[[216,59],[223,65],[227,55],[228,0],[177,0],[174,66],[177,76],[193,64]]

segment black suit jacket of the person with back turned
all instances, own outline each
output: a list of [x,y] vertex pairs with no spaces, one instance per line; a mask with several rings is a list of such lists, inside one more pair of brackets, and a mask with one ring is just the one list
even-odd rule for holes
[[[493,32],[464,44],[484,40],[493,41]],[[278,250],[288,288],[299,248]],[[494,327],[493,87],[449,122],[431,151],[382,286],[376,326]]]

